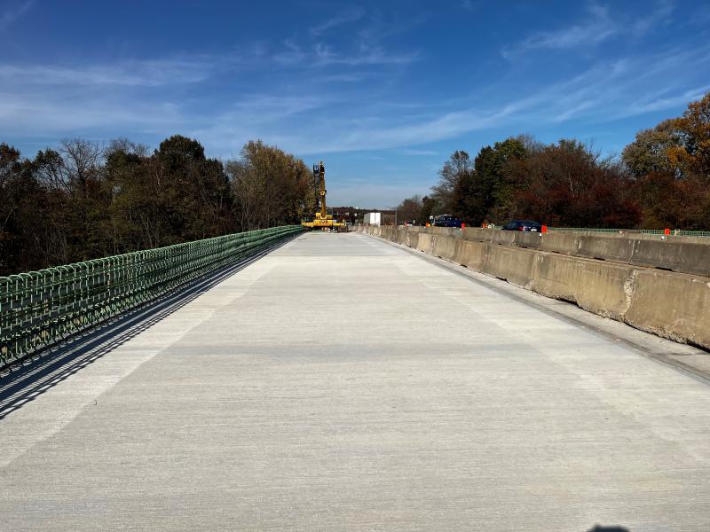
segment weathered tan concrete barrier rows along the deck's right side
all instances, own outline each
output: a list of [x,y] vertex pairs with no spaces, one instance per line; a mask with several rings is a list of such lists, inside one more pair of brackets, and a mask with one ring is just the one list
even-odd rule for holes
[[520,237],[514,231],[489,239],[488,233],[504,233],[485,231],[363,230],[643,331],[710,348],[710,277],[673,271],[708,272],[710,246],[571,233]]

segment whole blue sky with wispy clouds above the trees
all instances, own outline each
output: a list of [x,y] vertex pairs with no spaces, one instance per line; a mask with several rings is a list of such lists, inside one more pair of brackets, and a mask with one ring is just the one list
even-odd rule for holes
[[0,141],[323,159],[331,205],[426,193],[528,133],[618,153],[710,90],[710,2],[0,0]]

